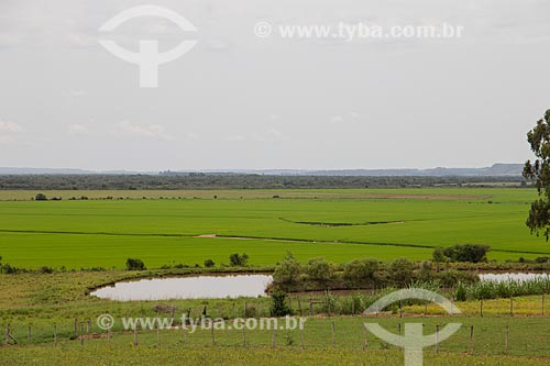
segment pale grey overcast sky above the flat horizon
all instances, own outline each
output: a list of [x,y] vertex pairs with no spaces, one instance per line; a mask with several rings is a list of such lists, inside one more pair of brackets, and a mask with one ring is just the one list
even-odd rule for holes
[[[481,167],[530,157],[550,108],[547,0],[0,0],[0,166],[86,169]],[[450,24],[454,40],[283,40],[274,24]],[[156,89],[98,44],[197,45]]]

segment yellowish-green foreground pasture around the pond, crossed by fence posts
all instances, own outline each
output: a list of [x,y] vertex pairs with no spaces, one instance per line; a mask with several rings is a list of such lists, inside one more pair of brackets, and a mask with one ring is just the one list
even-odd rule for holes
[[[459,332],[440,345],[440,351],[450,354],[449,359],[454,362],[450,365],[475,365],[476,363],[512,365],[514,362],[517,363],[517,358],[508,358],[505,355],[506,328],[509,332],[507,350],[509,356],[539,357],[520,358],[526,365],[543,365],[550,359],[550,334],[548,333],[550,300],[547,299],[542,308],[542,298],[539,296],[514,299],[515,317],[509,317],[509,299],[485,300],[483,318],[480,315],[479,301],[457,302],[455,307],[460,308],[463,313],[452,318],[443,317],[442,310],[435,304],[427,308],[424,306],[405,307],[404,318],[399,318],[396,309],[378,317],[342,317],[340,308],[334,307],[332,317],[328,318],[327,313],[323,313],[326,311],[323,306],[316,304],[314,309],[316,315],[308,317],[305,324],[304,346],[307,352],[301,351],[301,334],[298,330],[277,331],[276,350],[271,350],[273,332],[270,330],[246,330],[245,339],[249,347],[242,350],[243,334],[234,329],[216,330],[215,346],[212,346],[209,330],[199,330],[195,333],[182,329],[163,330],[158,333],[140,331],[140,345],[134,348],[132,346],[133,333],[124,331],[121,318],[169,318],[169,310],[160,312],[155,310],[158,304],[175,307],[176,320],[189,310],[194,318],[200,317],[204,308],[207,307],[209,317],[228,318],[230,319],[227,323],[229,325],[232,324],[232,318],[244,315],[245,302],[249,310],[254,309],[256,318],[268,317],[270,313],[270,299],[267,298],[116,302],[86,295],[88,288],[100,284],[146,274],[106,271],[0,276],[0,328],[3,330],[7,324],[10,324],[11,334],[19,342],[19,345],[0,348],[0,363],[68,365],[75,359],[86,359],[90,365],[142,365],[150,364],[152,361],[170,365],[178,359],[188,359],[191,364],[209,365],[219,359],[226,364],[253,363],[254,359],[257,363],[257,359],[263,358],[254,357],[266,357],[267,362],[272,359],[273,363],[280,358],[288,364],[308,365],[316,359],[338,364],[338,357],[334,355],[345,354],[346,356],[341,356],[340,364],[362,364],[363,361],[360,362],[360,359],[369,364],[383,364],[384,362],[391,365],[399,364],[400,353],[396,352],[396,347],[388,346],[374,335],[365,333],[363,328],[365,322],[380,323],[394,333],[397,333],[399,328],[403,332],[406,323],[420,322],[425,325],[425,334],[433,333],[436,325],[462,323]],[[304,315],[308,312],[306,303],[310,297],[318,301],[323,299],[322,295],[302,295]],[[293,296],[293,308],[299,315],[296,296]],[[542,309],[544,317],[541,315]],[[106,313],[111,314],[116,320],[109,342],[106,332],[96,323],[97,317]],[[79,323],[79,326],[81,324],[84,329],[87,328],[87,320],[90,320],[90,330],[85,331],[89,335],[85,340],[84,350],[81,350],[80,341],[75,340],[75,318],[84,322]],[[333,343],[332,324],[334,324]],[[57,334],[56,348],[53,345],[54,325]],[[31,345],[28,339],[29,326],[32,329]],[[470,351],[471,326],[474,328],[473,355],[464,355]],[[99,339],[94,339],[94,336]],[[362,352],[365,336],[369,343],[366,353]],[[161,350],[156,350],[158,344]],[[433,353],[435,347],[428,348],[428,352]],[[320,356],[321,354],[327,355]],[[441,362],[441,357],[431,355],[429,362],[437,365]]]

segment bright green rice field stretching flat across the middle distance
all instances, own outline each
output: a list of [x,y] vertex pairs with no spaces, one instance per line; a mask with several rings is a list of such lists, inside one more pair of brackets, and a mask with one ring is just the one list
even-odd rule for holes
[[[274,265],[287,252],[343,263],[428,259],[436,246],[486,244],[490,259],[550,256],[525,225],[534,189],[0,191],[0,255],[24,268]],[[86,196],[88,200],[69,200]],[[112,199],[105,199],[112,197]]]

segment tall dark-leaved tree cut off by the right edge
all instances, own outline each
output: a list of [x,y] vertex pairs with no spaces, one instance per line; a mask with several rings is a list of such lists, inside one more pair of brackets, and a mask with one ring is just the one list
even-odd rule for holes
[[535,180],[539,199],[531,203],[526,224],[531,230],[531,234],[536,233],[538,236],[540,232],[543,232],[548,242],[550,236],[550,109],[527,133],[527,141],[531,145],[536,159],[532,163],[527,160],[524,177]]

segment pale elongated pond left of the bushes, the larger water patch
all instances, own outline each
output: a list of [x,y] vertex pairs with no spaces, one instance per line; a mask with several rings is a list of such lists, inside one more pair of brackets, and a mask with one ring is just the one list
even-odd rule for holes
[[258,297],[272,281],[267,275],[153,278],[117,282],[90,295],[117,301]]

